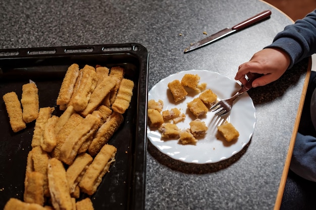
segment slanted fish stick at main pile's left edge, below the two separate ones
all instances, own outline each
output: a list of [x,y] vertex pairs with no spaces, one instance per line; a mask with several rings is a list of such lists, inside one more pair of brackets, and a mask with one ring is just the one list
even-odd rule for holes
[[43,137],[45,125],[54,110],[54,107],[43,107],[39,109],[32,138],[32,147],[40,146],[40,141]]

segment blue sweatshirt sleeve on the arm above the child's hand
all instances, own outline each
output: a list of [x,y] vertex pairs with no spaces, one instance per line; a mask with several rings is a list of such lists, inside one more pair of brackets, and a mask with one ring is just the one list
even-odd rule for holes
[[291,64],[308,57],[316,52],[316,10],[302,20],[288,25],[276,35],[273,43],[265,48],[279,48],[291,57]]

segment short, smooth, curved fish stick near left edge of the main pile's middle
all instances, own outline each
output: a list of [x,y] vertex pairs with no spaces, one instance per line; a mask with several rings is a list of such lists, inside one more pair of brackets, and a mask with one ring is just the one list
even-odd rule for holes
[[40,141],[41,148],[50,153],[56,147],[56,134],[55,134],[55,124],[58,120],[58,116],[52,115],[45,125],[43,131],[43,137]]

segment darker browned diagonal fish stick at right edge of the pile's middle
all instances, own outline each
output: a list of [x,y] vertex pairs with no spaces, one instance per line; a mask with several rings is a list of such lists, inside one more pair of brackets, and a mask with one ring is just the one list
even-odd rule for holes
[[120,127],[123,122],[123,115],[117,112],[109,117],[109,119],[101,125],[96,131],[92,143],[88,149],[91,156],[95,156],[100,149],[108,143],[115,131]]

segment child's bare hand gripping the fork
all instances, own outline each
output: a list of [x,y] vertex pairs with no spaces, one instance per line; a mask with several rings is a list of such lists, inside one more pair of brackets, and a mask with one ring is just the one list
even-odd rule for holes
[[246,83],[245,76],[251,77],[251,73],[264,76],[255,79],[252,87],[265,86],[278,80],[291,63],[290,56],[277,48],[266,48],[256,52],[252,58],[239,66],[235,80]]

